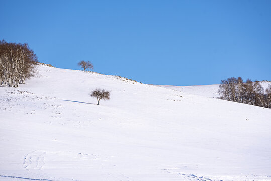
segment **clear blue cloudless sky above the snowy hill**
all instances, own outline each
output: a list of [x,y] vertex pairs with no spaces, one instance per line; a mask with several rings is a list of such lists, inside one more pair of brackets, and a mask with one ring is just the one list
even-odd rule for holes
[[271,80],[271,1],[4,1],[0,39],[148,84]]

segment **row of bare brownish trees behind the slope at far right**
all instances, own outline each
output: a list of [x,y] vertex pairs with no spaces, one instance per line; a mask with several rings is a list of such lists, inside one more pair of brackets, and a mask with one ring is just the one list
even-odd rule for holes
[[271,108],[271,85],[264,91],[258,81],[228,78],[221,81],[219,94],[224,100]]

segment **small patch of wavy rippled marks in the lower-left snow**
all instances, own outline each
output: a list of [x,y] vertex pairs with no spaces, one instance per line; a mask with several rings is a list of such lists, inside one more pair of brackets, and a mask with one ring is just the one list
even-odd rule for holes
[[32,151],[24,157],[23,167],[26,170],[30,169],[42,169],[44,166],[45,151]]

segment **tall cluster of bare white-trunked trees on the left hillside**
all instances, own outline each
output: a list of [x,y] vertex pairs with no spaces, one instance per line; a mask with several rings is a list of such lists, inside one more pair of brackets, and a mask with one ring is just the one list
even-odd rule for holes
[[38,59],[27,43],[0,41],[0,84],[18,87],[34,73]]

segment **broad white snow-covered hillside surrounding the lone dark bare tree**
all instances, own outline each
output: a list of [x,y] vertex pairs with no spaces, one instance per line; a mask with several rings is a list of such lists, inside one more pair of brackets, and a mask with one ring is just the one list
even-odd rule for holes
[[40,65],[0,94],[0,180],[271,180],[271,109],[200,86]]

